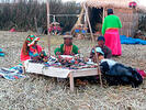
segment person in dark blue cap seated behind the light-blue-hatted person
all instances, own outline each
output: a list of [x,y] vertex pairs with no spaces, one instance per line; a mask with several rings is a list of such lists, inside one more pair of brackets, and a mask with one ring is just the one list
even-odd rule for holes
[[[112,57],[112,51],[105,46],[105,40],[103,36],[98,37],[98,45],[96,47],[101,47],[102,52],[104,53],[105,58],[111,58]],[[91,50],[90,52],[90,58],[96,62],[94,59],[94,48]]]

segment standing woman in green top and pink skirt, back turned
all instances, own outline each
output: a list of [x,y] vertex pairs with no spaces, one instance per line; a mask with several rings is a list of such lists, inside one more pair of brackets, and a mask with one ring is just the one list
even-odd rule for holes
[[122,54],[119,29],[122,28],[119,16],[113,14],[112,9],[108,9],[108,16],[105,16],[102,25],[102,34],[105,37],[105,45],[112,50],[113,56]]

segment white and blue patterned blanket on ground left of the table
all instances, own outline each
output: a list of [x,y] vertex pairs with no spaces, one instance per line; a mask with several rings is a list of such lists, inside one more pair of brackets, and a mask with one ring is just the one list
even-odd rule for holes
[[0,68],[0,76],[9,80],[25,78],[25,76],[22,74],[23,74],[22,64],[19,64],[18,66],[11,68]]

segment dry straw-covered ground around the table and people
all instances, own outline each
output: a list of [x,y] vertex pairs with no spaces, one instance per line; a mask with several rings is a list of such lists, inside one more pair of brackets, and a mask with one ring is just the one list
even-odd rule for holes
[[[5,57],[0,57],[0,67],[20,63],[22,44],[30,33],[0,32],[0,47]],[[52,54],[63,43],[61,36],[52,36]],[[90,41],[74,41],[85,56],[93,44]],[[47,36],[40,44],[47,51]],[[146,70],[146,46],[122,45],[123,54],[114,59]],[[146,82],[138,88],[131,86],[105,86],[99,84],[76,87],[70,92],[68,80],[56,82],[54,78],[25,74],[27,78],[7,80],[0,78],[0,110],[146,110]]]

